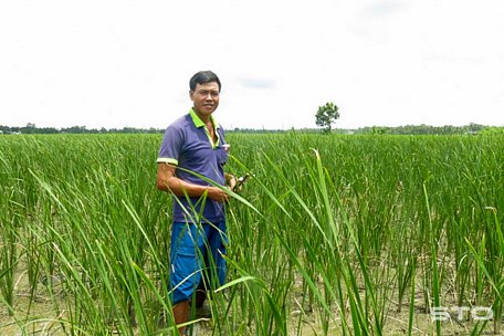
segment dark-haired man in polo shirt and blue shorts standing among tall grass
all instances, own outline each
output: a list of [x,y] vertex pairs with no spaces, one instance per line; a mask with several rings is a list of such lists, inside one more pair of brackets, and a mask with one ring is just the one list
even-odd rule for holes
[[[230,187],[235,183],[224,174],[229,145],[212,116],[219,106],[220,80],[201,71],[189,87],[193,105],[168,126],[157,159],[157,188],[175,196],[170,288],[177,325],[189,319],[191,303],[202,306],[207,286],[224,284],[228,193],[222,186],[227,180]],[[180,335],[183,332],[179,328]]]

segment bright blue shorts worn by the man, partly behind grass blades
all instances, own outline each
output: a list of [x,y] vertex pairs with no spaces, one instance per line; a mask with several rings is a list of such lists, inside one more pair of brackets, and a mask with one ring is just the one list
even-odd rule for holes
[[217,288],[225,283],[225,221],[210,224],[175,222],[171,228],[170,294],[175,305],[190,301],[203,284]]

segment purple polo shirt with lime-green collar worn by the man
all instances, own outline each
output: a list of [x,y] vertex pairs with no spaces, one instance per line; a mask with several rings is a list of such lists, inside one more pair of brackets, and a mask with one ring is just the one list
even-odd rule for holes
[[[185,181],[211,186],[195,174],[204,176],[221,186],[225,185],[224,165],[228,162],[224,130],[212,116],[218,140],[213,143],[204,123],[191,108],[189,114],[178,118],[165,132],[159,149],[158,164],[165,162],[177,166],[176,176]],[[180,169],[179,169],[180,168]],[[175,222],[212,222],[224,220],[222,203],[209,198],[178,196],[174,199]]]

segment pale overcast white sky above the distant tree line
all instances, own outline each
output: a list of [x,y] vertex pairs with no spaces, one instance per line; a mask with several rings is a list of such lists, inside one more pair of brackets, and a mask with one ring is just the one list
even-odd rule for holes
[[502,0],[0,0],[0,125],[165,128],[189,78],[227,128],[504,125]]

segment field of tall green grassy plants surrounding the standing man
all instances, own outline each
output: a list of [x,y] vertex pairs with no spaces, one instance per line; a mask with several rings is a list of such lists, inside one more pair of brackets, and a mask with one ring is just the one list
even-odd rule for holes
[[[0,136],[1,335],[170,333],[161,137]],[[504,136],[228,141],[254,178],[203,335],[502,333]]]

